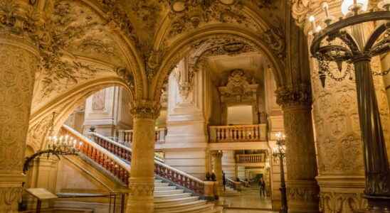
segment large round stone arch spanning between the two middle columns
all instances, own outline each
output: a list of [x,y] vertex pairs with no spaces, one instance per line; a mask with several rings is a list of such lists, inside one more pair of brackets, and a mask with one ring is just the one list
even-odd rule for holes
[[251,43],[255,48],[263,53],[265,57],[270,61],[273,66],[273,74],[275,75],[275,82],[277,87],[282,87],[285,84],[285,65],[284,58],[280,58],[279,55],[275,55],[273,49],[270,48],[272,43],[267,43],[261,35],[248,31],[243,28],[218,25],[210,26],[208,28],[199,28],[199,30],[189,33],[184,38],[176,40],[172,43],[166,57],[162,61],[162,64],[157,72],[156,76],[152,80],[151,87],[149,88],[149,99],[159,100],[160,90],[164,84],[164,81],[169,76],[172,69],[176,64],[188,55],[191,50],[196,48],[196,45],[204,40],[213,40],[221,37],[237,38],[243,40],[245,43]]

